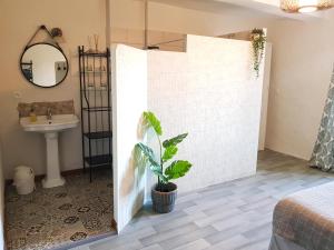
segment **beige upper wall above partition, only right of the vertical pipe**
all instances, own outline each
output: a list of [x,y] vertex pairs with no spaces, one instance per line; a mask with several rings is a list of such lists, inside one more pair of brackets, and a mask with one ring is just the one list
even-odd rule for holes
[[[167,1],[168,2],[168,1]],[[220,36],[230,32],[267,27],[275,17],[246,8],[224,7],[217,11],[204,11],[190,4],[168,6],[149,3],[149,29],[202,36]],[[212,4],[212,3],[208,3]]]

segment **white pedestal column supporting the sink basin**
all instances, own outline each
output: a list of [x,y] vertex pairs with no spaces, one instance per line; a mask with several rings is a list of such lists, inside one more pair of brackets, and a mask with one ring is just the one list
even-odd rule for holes
[[58,133],[45,133],[47,141],[47,176],[42,180],[43,188],[53,188],[65,184],[65,179],[60,176]]

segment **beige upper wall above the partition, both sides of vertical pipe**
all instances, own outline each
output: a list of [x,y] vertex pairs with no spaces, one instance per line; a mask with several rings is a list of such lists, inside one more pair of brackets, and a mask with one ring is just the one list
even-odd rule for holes
[[[217,7],[213,2],[149,1],[148,29],[175,33],[218,36],[267,27],[275,17],[258,11],[230,6]],[[168,4],[170,3],[170,4]],[[214,8],[213,8],[214,6]],[[144,1],[110,0],[112,28],[144,30]],[[132,34],[135,36],[135,33]],[[111,30],[112,37],[112,30]]]

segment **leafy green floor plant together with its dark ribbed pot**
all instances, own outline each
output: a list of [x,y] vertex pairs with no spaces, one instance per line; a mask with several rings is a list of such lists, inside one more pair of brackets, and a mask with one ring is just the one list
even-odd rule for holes
[[[163,129],[160,121],[153,112],[144,112],[145,123],[148,129],[153,129],[159,143],[159,152],[144,144],[137,143],[136,149],[140,152],[146,166],[158,177],[158,182],[151,189],[153,209],[159,213],[173,211],[177,197],[177,186],[171,180],[184,177],[191,163],[185,160],[170,160],[176,156],[180,143],[188,133],[183,133],[161,142]],[[167,166],[167,167],[166,167]]]

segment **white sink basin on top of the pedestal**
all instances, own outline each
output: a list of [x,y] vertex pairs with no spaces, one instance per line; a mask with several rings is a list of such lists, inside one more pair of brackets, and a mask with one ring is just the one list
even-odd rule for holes
[[38,116],[36,122],[31,122],[29,117],[21,118],[20,123],[28,132],[58,132],[78,126],[79,119],[76,114],[56,114],[51,120],[47,116]]

